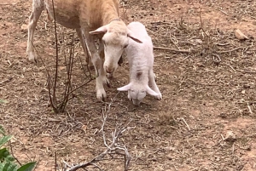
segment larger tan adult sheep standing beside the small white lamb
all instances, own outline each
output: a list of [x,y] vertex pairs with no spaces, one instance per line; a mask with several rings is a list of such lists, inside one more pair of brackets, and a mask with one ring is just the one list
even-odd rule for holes
[[[125,22],[119,19],[119,0],[33,0],[32,14],[29,17],[28,40],[26,53],[28,60],[37,61],[33,48],[34,31],[38,19],[44,9],[50,18],[67,28],[76,29],[79,40],[84,48],[89,48],[91,59],[96,70],[96,98],[105,100],[106,91],[103,83],[109,83],[107,73],[113,74],[118,67],[118,61],[129,38],[142,43],[133,36]],[[55,11],[55,17],[54,17]],[[99,38],[100,46],[97,50],[95,39]],[[104,60],[105,59],[105,60]]]

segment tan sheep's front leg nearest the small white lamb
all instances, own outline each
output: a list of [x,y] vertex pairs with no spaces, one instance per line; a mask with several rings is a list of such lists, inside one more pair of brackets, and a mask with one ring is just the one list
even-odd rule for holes
[[89,34],[89,31],[83,30],[85,43],[86,46],[90,49],[90,54],[91,54],[91,61],[93,66],[95,67],[96,75],[96,98],[98,100],[105,100],[107,98],[106,91],[103,87],[104,83],[108,83],[108,78],[107,78],[107,72],[103,68],[103,59],[100,58],[100,55],[97,52],[96,49],[96,44],[95,44],[95,37],[93,35]]

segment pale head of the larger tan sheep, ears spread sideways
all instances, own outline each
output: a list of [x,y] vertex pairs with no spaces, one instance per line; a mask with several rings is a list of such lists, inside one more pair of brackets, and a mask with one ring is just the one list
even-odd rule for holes
[[137,43],[142,43],[133,36],[133,33],[122,20],[113,20],[108,25],[96,29],[96,31],[90,31],[90,34],[101,33],[104,34],[102,37],[105,54],[103,67],[108,73],[113,73],[117,69],[118,61],[129,43],[129,37]]

